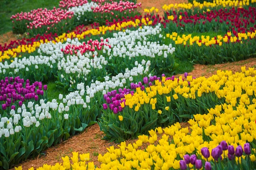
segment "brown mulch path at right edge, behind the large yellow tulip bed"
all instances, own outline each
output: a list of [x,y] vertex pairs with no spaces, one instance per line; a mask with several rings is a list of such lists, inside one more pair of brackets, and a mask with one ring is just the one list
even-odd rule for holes
[[[241,72],[241,67],[255,67],[256,66],[256,58],[250,58],[246,60],[241,60],[238,62],[228,62],[224,64],[215,64],[215,65],[200,65],[195,64],[193,71],[189,73],[192,77],[210,77],[214,74],[217,74],[217,70],[232,70],[233,73]],[[177,76],[183,76],[183,74],[178,74]]]

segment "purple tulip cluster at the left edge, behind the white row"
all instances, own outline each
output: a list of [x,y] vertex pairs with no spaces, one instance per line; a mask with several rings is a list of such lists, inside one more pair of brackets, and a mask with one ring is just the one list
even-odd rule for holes
[[[23,85],[25,84],[25,87]],[[42,85],[42,82],[35,82],[30,85],[29,79],[24,81],[20,77],[6,77],[0,81],[0,103],[2,109],[6,110],[7,107],[14,104],[16,101],[21,106],[26,99],[38,100],[39,95],[44,95],[44,91],[47,90],[47,85]],[[15,105],[11,106],[11,109],[15,109]]]

